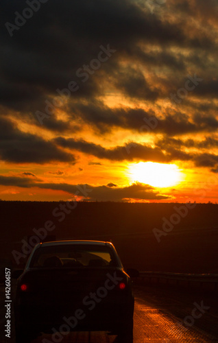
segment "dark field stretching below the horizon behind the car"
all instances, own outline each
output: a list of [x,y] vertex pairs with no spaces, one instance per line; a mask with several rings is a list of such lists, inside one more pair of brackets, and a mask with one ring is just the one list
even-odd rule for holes
[[[191,204],[189,209],[186,204],[70,205],[72,209],[66,207],[66,202],[1,201],[1,267],[10,264],[9,260],[21,267],[24,259],[17,264],[12,251],[22,252],[21,240],[31,241],[36,236],[33,229],[43,228],[38,233],[55,235],[56,239],[112,240],[125,268],[218,272],[217,204]],[[47,221],[50,231],[45,230]],[[164,222],[167,226],[163,227]],[[161,230],[159,242],[154,228]]]

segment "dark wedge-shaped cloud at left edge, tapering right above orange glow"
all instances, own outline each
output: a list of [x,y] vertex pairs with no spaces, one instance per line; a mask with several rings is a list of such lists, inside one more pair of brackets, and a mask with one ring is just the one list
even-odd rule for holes
[[0,156],[14,163],[48,163],[54,161],[75,163],[72,154],[60,150],[51,141],[34,134],[21,132],[15,124],[0,117]]

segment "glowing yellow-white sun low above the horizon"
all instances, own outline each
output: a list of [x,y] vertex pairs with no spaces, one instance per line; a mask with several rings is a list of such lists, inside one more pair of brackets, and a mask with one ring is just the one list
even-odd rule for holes
[[182,173],[177,165],[139,162],[129,167],[133,182],[141,182],[153,187],[172,187],[182,180]]

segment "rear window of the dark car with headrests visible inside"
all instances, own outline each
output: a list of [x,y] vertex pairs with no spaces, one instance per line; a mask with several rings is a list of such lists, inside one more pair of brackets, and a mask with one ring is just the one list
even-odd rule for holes
[[40,246],[32,256],[30,268],[99,268],[116,267],[119,261],[108,246],[71,245]]

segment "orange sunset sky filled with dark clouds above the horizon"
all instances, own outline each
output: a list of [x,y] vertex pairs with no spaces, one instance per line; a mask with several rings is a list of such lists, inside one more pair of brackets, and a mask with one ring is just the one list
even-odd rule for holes
[[2,0],[0,199],[217,202],[217,0]]

